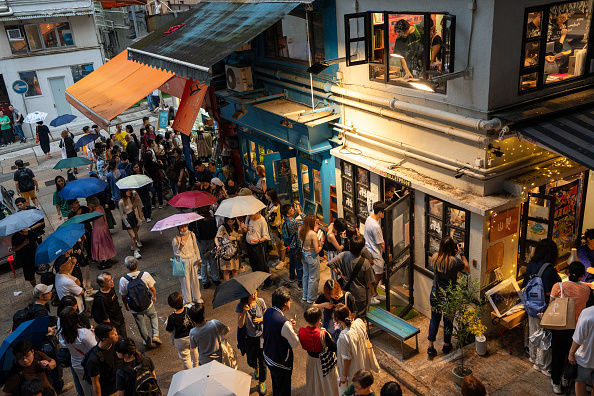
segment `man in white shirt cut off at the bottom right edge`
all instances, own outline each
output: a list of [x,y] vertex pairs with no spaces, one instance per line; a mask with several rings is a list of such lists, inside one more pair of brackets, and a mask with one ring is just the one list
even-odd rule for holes
[[594,307],[580,314],[573,333],[569,363],[578,365],[576,396],[586,396],[586,382],[594,381]]

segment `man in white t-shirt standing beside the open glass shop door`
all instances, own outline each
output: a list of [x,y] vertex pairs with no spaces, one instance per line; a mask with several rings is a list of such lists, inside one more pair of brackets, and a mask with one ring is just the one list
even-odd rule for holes
[[384,251],[386,244],[384,243],[384,234],[380,225],[381,219],[384,218],[385,211],[388,205],[385,202],[375,202],[373,204],[373,214],[365,220],[365,231],[363,237],[365,238],[365,247],[373,257],[372,268],[375,275],[375,287],[371,290],[371,304],[377,305],[380,300],[385,300],[386,296],[377,293],[377,286],[384,276]]

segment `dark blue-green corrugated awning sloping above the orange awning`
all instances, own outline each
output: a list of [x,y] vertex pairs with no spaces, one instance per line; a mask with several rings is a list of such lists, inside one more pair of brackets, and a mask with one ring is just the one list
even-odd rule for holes
[[[208,81],[212,65],[313,0],[202,1],[128,48],[134,61]],[[171,27],[183,27],[165,34]],[[164,35],[165,34],[165,35]]]

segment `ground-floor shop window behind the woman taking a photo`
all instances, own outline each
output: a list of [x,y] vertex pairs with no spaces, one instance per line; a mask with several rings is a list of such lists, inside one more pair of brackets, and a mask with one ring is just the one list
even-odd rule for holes
[[433,272],[431,257],[439,251],[441,240],[450,236],[462,243],[468,258],[470,212],[438,198],[427,196],[425,208],[425,268]]

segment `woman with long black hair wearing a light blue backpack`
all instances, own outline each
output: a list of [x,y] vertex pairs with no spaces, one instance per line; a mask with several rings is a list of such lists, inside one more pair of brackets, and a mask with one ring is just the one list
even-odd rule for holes
[[[526,264],[526,273],[524,274],[524,287],[528,284],[531,278],[538,275],[543,266],[547,266],[542,272],[542,285],[545,292],[545,299],[549,300],[551,290],[557,282],[561,282],[561,278],[555,269],[557,259],[559,258],[559,250],[555,241],[549,238],[540,240],[534,248],[534,254],[530,262]],[[540,318],[528,315],[528,333],[529,336],[540,330]],[[553,359],[551,348],[540,349],[539,345],[528,343],[528,350],[530,353],[530,363],[534,363],[532,368],[540,371],[542,374],[550,377],[551,363]]]

